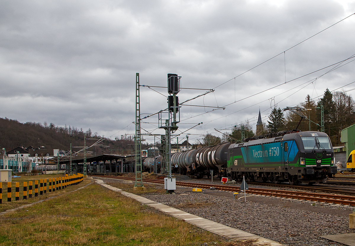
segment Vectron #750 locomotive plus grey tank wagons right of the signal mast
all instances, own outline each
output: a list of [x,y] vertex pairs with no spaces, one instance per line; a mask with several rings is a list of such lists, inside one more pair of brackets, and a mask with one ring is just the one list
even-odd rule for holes
[[249,181],[294,184],[325,183],[337,173],[333,146],[324,132],[286,132],[281,136],[174,153],[172,165],[183,173]]

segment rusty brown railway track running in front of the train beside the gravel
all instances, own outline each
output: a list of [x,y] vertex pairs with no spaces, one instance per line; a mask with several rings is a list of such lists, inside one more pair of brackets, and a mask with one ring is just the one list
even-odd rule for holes
[[[129,178],[129,177],[115,177],[115,176],[101,176],[101,175],[92,175],[92,176],[105,177],[111,179],[135,180],[135,178]],[[145,179],[144,182],[164,184],[163,180]],[[209,189],[211,187],[211,185],[209,184],[197,184],[197,183],[190,183],[190,182],[176,182],[176,185],[185,186],[185,187],[204,188],[204,189]],[[240,187],[237,186],[213,185],[213,187],[216,190],[221,190],[221,191],[240,192]],[[317,187],[317,190],[320,188],[321,187]],[[329,192],[329,190],[327,191]],[[331,195],[331,194],[310,193],[310,192],[301,192],[301,191],[269,190],[269,189],[262,189],[262,188],[249,188],[247,193],[255,194],[255,195],[285,197],[285,198],[300,199],[300,200],[307,200],[307,201],[326,202],[326,203],[333,203],[333,204],[355,206],[355,196]]]

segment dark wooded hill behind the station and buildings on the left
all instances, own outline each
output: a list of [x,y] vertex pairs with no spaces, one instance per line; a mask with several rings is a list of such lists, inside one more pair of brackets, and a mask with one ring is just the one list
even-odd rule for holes
[[[18,146],[27,148],[33,146],[35,148],[44,146],[46,149],[70,149],[72,146],[84,146],[84,133],[87,138],[99,137],[97,133],[92,134],[91,130],[83,131],[75,127],[59,127],[53,123],[49,125],[26,122],[21,123],[17,120],[0,118],[0,149],[5,148],[10,151]],[[87,140],[87,146],[94,143],[94,140]],[[110,146],[107,148],[92,147],[89,151],[93,154],[119,154],[131,155],[134,150],[134,139],[132,136],[122,137],[121,139],[110,140],[105,138],[101,144]],[[142,146],[143,148],[143,146]],[[79,148],[73,148],[73,151],[78,151]]]

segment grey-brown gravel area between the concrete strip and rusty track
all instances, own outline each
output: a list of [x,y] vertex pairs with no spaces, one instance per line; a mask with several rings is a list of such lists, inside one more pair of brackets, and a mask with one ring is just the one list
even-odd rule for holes
[[[121,180],[100,179],[113,186],[114,183],[122,182]],[[201,181],[200,183],[208,182]],[[162,185],[157,184],[149,184],[149,186],[162,188]],[[249,187],[262,186],[250,185]],[[354,209],[350,206],[248,194],[245,203],[244,195],[238,195],[241,198],[234,200],[232,192],[190,191],[191,188],[184,188],[177,189],[173,194],[142,196],[290,246],[340,246],[343,244],[322,239],[320,236],[355,233],[355,229],[348,228],[349,214]]]

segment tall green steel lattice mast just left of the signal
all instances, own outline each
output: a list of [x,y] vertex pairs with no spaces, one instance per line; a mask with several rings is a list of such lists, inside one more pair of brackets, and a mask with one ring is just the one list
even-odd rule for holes
[[142,180],[142,149],[141,149],[141,109],[140,109],[140,93],[139,93],[139,73],[136,73],[136,137],[135,137],[135,157],[136,157],[136,182],[134,189],[143,189]]

